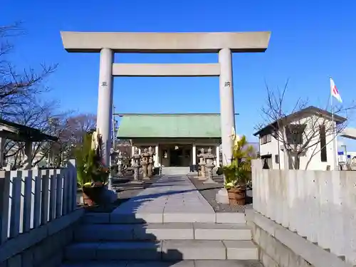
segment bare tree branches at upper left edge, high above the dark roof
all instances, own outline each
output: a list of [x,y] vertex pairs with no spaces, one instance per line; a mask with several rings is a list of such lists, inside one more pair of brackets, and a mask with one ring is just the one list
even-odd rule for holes
[[43,80],[57,67],[41,64],[38,70],[16,68],[10,58],[14,52],[13,41],[23,33],[20,23],[0,26],[0,117],[6,119],[14,115],[11,107],[31,103],[34,96],[48,90]]

